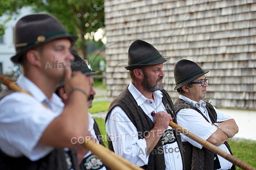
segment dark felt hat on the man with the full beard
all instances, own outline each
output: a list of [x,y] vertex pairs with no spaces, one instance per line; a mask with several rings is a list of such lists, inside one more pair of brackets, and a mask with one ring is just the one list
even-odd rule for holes
[[134,68],[157,65],[166,61],[167,59],[163,58],[153,45],[143,40],[136,40],[129,47],[128,66],[125,68],[126,70],[133,70]]

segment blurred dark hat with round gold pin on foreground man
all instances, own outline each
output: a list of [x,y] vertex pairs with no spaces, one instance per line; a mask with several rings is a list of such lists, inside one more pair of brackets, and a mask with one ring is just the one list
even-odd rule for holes
[[58,38],[68,38],[73,44],[77,37],[67,33],[64,26],[49,14],[29,14],[22,17],[14,28],[16,55],[12,62],[19,63],[26,51]]

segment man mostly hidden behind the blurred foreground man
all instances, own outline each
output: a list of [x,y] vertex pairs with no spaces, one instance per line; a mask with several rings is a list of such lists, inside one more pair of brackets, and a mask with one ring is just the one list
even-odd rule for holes
[[[92,71],[87,63],[81,58],[79,57],[79,55],[77,55],[76,53],[72,52],[72,54],[74,55],[75,59],[72,61],[71,63],[71,69],[72,71],[81,71],[83,74],[86,75],[87,77],[87,81],[89,82],[90,85],[90,93],[89,93],[89,97],[88,97],[88,108],[92,107],[92,102],[93,102],[93,98],[96,95],[96,92],[93,89],[93,75],[98,73],[98,71]],[[58,96],[62,99],[62,101],[64,102],[65,105],[68,104],[69,101],[69,95],[67,94],[65,87],[64,87],[64,83],[60,83],[59,87],[56,91],[56,94],[58,94]],[[87,113],[84,113],[87,114]],[[90,132],[90,136],[88,136],[88,138],[92,138],[93,141],[96,141],[97,143],[102,144],[103,146],[103,140],[102,140],[102,135],[99,131],[99,127],[97,125],[97,122],[93,119],[93,116],[88,113],[89,115],[89,132]],[[101,159],[99,159],[97,156],[95,156],[94,154],[91,153],[91,151],[87,151],[84,149],[84,147],[82,146],[78,146],[77,148],[77,156],[78,156],[78,161],[79,163],[81,162],[81,166],[83,167],[84,170],[107,170],[107,167],[105,167],[105,165],[102,163]],[[68,150],[67,148],[64,148],[64,150],[67,151],[68,155],[71,155],[73,153],[73,150]],[[71,168],[70,168],[71,169]]]

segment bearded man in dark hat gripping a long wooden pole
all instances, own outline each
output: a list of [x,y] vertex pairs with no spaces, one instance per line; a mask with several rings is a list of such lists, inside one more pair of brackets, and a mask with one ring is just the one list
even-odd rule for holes
[[128,50],[130,84],[106,116],[109,149],[147,170],[182,170],[179,133],[169,94],[163,89],[167,59],[148,42],[134,41]]

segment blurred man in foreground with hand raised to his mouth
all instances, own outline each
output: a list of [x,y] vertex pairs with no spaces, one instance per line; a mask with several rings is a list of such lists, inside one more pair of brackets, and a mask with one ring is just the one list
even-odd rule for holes
[[[21,64],[23,75],[16,84],[29,94],[8,89],[1,94],[1,170],[68,169],[63,148],[79,146],[77,139],[88,133],[84,103],[90,88],[84,74],[72,73],[68,67],[74,59],[70,47],[75,41],[48,14],[30,14],[16,23],[16,55],[11,60]],[[46,68],[55,61],[66,67]],[[65,107],[54,93],[61,81],[70,96]]]

